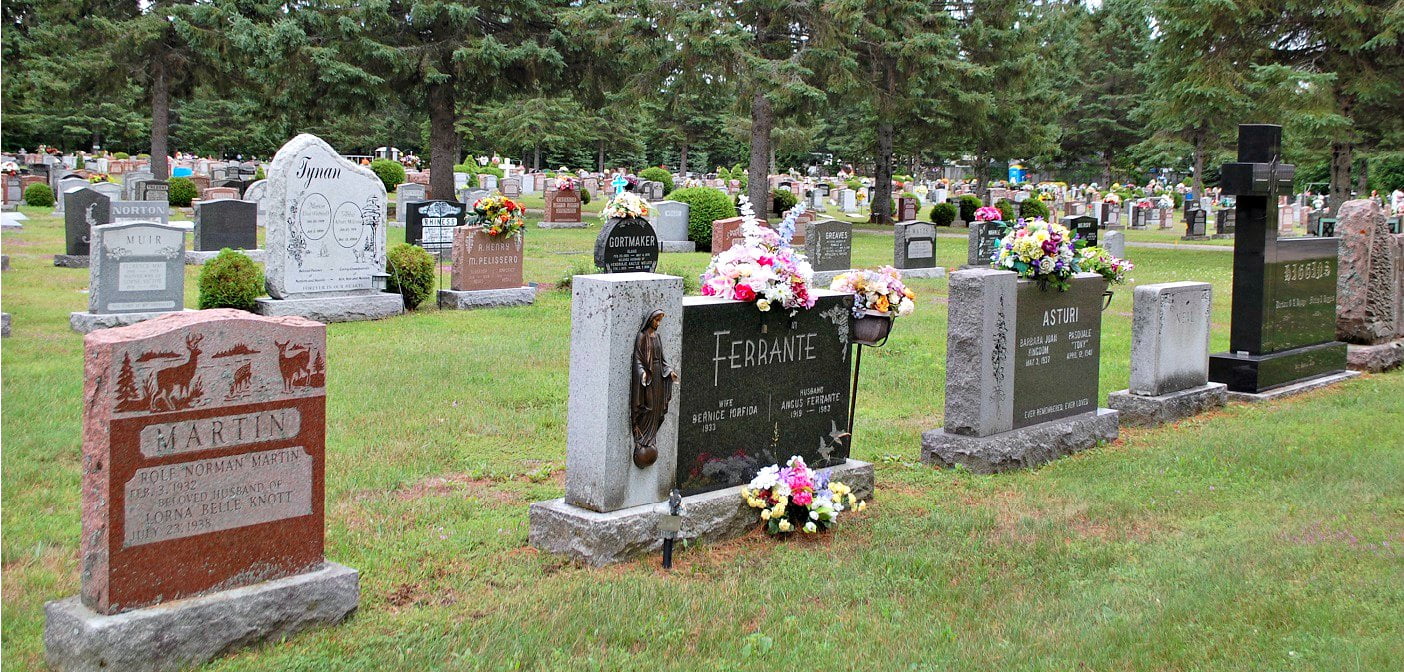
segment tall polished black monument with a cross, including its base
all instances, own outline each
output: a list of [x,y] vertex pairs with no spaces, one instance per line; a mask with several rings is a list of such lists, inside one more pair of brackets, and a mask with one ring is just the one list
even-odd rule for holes
[[1238,126],[1238,161],[1221,168],[1236,195],[1233,321],[1228,352],[1209,358],[1209,379],[1262,393],[1345,370],[1335,340],[1334,237],[1278,238],[1278,195],[1296,167],[1279,163],[1282,126]]

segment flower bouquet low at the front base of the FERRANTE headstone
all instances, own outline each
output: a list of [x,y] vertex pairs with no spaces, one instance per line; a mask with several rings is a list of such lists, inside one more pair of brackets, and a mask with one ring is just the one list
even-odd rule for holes
[[750,485],[741,488],[741,498],[753,509],[761,509],[767,533],[797,530],[813,535],[833,527],[844,509],[862,511],[868,506],[848,485],[828,476],[827,469],[814,471],[803,457],[795,456],[783,467],[771,464],[762,469]]

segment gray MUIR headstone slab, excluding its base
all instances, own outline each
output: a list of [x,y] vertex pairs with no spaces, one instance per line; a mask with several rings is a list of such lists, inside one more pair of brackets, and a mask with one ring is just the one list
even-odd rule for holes
[[124,222],[93,229],[90,313],[154,313],[185,304],[185,229]]

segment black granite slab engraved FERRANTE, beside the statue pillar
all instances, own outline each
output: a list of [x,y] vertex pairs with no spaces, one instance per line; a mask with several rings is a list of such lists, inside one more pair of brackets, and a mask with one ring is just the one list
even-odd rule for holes
[[802,456],[812,467],[848,457],[852,297],[762,313],[754,303],[688,299],[682,307],[678,487],[684,494],[748,483]]

